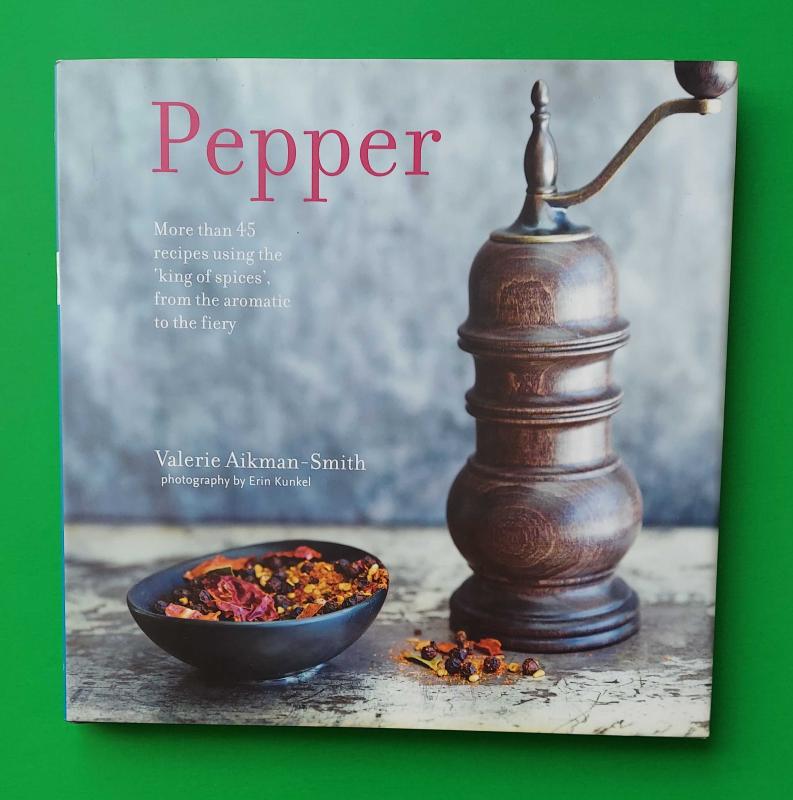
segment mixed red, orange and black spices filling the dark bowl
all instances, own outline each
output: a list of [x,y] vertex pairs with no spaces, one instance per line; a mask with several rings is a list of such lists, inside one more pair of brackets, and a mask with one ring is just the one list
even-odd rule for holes
[[302,545],[261,557],[212,556],[183,577],[186,584],[158,600],[157,611],[181,619],[233,622],[330,614],[387,589],[389,580],[388,570],[371,556],[323,561],[321,553]]

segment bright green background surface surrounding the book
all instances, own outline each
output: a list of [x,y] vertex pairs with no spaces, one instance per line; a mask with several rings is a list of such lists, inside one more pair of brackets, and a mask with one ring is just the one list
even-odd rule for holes
[[[793,348],[786,313],[793,303],[792,16],[781,2],[680,0],[5,5],[0,791],[11,798],[242,792],[289,800],[369,793],[491,800],[780,795],[793,724],[793,490],[787,486]],[[709,740],[62,721],[53,65],[164,56],[740,62]],[[602,101],[607,97],[604,90]]]

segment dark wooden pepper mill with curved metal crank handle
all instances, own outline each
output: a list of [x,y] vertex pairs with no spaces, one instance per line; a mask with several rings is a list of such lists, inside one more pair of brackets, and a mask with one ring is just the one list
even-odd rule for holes
[[476,379],[467,409],[476,452],[454,481],[447,520],[474,574],[451,598],[451,626],[531,652],[589,650],[639,629],[639,601],[614,575],[642,522],[642,498],[614,452],[621,392],[611,360],[628,339],[606,244],[566,209],[611,179],[672,114],[710,114],[733,62],[675,62],[693,97],[662,103],[590,183],[556,189],[548,89],[532,90],[528,188],[520,216],[474,259],[459,329]]

